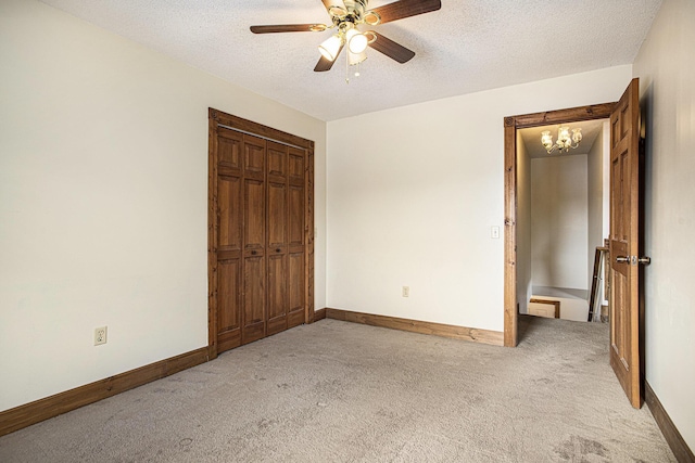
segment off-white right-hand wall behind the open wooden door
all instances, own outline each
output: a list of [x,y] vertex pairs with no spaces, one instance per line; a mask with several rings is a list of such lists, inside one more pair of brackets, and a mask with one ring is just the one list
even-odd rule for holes
[[646,124],[646,380],[695,449],[695,2],[665,0],[634,62]]

